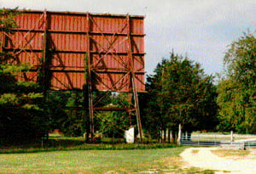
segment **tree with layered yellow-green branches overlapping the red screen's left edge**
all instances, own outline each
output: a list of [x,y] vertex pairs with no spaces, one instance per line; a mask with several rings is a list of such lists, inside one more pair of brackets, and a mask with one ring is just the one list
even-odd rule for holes
[[[17,28],[15,9],[0,10],[1,36],[14,34]],[[8,36],[7,36],[8,38]],[[40,138],[47,132],[47,119],[42,108],[43,93],[38,83],[20,81],[17,76],[24,75],[31,65],[20,64],[15,54],[5,52],[3,42],[0,51],[0,138],[17,142]]]

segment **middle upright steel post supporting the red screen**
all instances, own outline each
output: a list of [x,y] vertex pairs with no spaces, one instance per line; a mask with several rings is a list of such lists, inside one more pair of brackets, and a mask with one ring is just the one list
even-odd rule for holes
[[89,115],[90,115],[90,139],[94,140],[94,121],[93,121],[93,98],[92,98],[92,82],[91,82],[91,57],[90,57],[90,14],[87,12],[87,66],[88,66],[88,96],[89,96]]

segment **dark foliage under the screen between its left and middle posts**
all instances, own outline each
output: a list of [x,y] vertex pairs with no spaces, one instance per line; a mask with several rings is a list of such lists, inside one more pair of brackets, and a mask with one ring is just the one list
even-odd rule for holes
[[48,91],[45,105],[51,132],[58,129],[65,136],[83,135],[88,115],[85,113],[82,91]]

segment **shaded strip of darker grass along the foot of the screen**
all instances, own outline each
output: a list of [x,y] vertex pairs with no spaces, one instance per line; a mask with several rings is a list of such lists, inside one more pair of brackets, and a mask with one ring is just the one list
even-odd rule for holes
[[123,143],[118,139],[112,143],[108,139],[98,143],[85,143],[84,138],[43,138],[26,143],[1,144],[0,154],[37,153],[59,150],[129,150],[174,148],[172,143]]

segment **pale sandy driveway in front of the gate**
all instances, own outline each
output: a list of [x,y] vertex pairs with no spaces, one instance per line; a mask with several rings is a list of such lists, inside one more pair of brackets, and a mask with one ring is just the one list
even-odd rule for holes
[[256,174],[256,149],[250,149],[251,153],[244,158],[218,157],[212,154],[212,149],[217,148],[189,148],[180,155],[188,166],[216,170],[215,173]]

